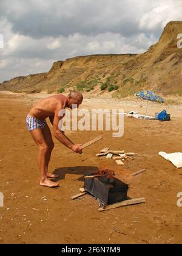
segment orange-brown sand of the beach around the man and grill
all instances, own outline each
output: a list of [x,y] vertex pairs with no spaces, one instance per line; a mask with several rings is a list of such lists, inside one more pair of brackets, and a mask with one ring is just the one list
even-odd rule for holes
[[[0,243],[182,243],[182,208],[177,207],[182,176],[158,155],[159,151],[181,151],[182,105],[150,103],[150,115],[167,109],[172,121],[125,118],[122,138],[112,138],[112,132],[68,132],[76,143],[103,135],[82,155],[54,139],[50,171],[60,175],[60,187],[50,189],[39,186],[38,149],[25,126],[31,105],[42,97],[0,94],[0,191],[5,196],[4,207],[0,207]],[[85,99],[83,107],[93,105],[144,113],[146,102]],[[126,160],[124,167],[116,166],[113,160],[95,156],[104,147],[139,155]],[[105,166],[129,182],[130,197],[145,197],[147,204],[99,213],[98,202],[91,196],[70,200],[83,186],[84,174]],[[129,179],[132,172],[143,168],[145,174]]]

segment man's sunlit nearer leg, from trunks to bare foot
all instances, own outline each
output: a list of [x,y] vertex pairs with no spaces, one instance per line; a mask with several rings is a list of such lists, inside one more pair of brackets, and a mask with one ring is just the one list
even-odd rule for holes
[[50,153],[49,153],[49,145],[45,141],[43,132],[41,129],[35,129],[32,130],[31,135],[33,137],[33,140],[39,147],[39,154],[38,154],[38,164],[39,164],[39,170],[41,172],[41,181],[40,185],[45,187],[58,187],[58,183],[52,182],[51,180],[47,179],[46,174],[46,165],[49,163],[50,159]]

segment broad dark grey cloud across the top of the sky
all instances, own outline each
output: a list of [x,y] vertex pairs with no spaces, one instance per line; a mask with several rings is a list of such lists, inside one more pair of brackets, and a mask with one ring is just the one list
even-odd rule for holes
[[1,0],[1,15],[12,23],[14,33],[33,38],[106,32],[128,36],[145,29],[139,26],[141,18],[147,21],[145,15],[167,1]]

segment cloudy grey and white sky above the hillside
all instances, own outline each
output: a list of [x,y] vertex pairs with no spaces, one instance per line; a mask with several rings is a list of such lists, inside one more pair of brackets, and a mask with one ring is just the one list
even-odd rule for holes
[[181,0],[0,0],[0,83],[79,55],[142,53]]

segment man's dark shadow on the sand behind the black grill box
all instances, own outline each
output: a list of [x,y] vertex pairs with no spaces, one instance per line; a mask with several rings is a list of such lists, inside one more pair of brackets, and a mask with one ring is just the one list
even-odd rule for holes
[[83,177],[78,178],[79,181],[84,181],[84,176],[93,174],[98,171],[98,168],[95,166],[75,166],[75,167],[62,167],[55,169],[53,174],[57,174],[59,177],[56,179],[52,179],[53,182],[58,182],[59,180],[64,180],[66,174],[79,174],[83,175]]

